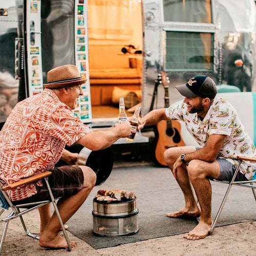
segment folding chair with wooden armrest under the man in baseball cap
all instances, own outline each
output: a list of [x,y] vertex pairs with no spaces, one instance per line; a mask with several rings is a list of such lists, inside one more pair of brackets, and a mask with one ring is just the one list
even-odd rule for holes
[[237,159],[239,160],[238,161],[238,166],[234,172],[234,175],[233,175],[233,178],[232,180],[229,182],[229,181],[219,181],[219,180],[216,180],[216,179],[213,179],[213,181],[217,181],[217,182],[221,182],[221,183],[226,183],[226,184],[229,184],[228,185],[228,188],[226,190],[226,193],[225,193],[225,196],[222,200],[222,203],[221,203],[221,206],[217,212],[217,216],[214,220],[214,223],[212,223],[212,226],[211,226],[211,229],[210,229],[210,233],[214,230],[215,226],[216,226],[216,223],[220,217],[220,214],[221,214],[221,211],[223,209],[223,206],[227,200],[227,197],[228,197],[228,194],[230,192],[230,189],[231,189],[231,186],[232,185],[237,185],[237,186],[242,186],[242,187],[249,187],[252,189],[252,193],[253,193],[253,196],[254,196],[254,199],[256,201],[256,192],[255,192],[255,188],[256,188],[256,175],[253,176],[253,179],[252,180],[249,180],[249,181],[234,181],[234,179],[236,178],[237,174],[238,174],[238,170],[239,170],[239,167],[240,167],[240,164],[242,163],[243,160],[245,161],[251,161],[251,162],[256,162],[256,158],[250,158],[250,157],[242,157],[242,156],[238,156]]

